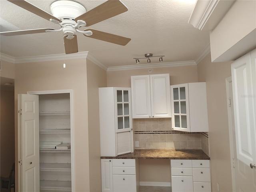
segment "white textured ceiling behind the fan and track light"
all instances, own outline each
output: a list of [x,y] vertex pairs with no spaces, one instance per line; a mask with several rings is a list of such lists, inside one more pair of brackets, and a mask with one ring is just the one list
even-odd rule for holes
[[[28,0],[50,12],[54,0]],[[102,4],[103,0],[76,0],[86,10]],[[196,60],[209,44],[209,32],[188,24],[195,0],[122,0],[128,8],[118,16],[104,20],[90,28],[131,38],[120,46],[78,35],[79,52],[88,51],[104,66],[136,65],[134,57],[146,53],[165,55],[163,62]],[[0,0],[0,30],[59,28],[56,24],[28,12],[6,0]],[[85,28],[84,28],[85,29]],[[84,30],[83,29],[83,30]],[[0,36],[0,52],[14,58],[63,54],[62,32]],[[151,63],[158,63],[152,58]],[[140,60],[146,64],[146,59]]]

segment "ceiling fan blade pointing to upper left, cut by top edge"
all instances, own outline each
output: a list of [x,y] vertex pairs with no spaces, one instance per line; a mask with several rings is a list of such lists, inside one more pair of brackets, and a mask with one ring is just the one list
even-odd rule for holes
[[55,19],[55,20],[58,20],[59,22],[62,22],[61,20],[59,20],[58,18],[52,16],[51,14],[49,14],[48,12],[34,6],[33,4],[25,1],[25,0],[8,0],[9,2],[21,7],[21,8],[24,8],[46,20],[50,20],[50,19]]

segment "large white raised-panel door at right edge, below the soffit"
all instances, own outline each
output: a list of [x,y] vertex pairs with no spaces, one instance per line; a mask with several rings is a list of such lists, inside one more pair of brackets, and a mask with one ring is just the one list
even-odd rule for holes
[[[237,158],[256,164],[256,120],[250,53],[231,64]],[[255,74],[254,74],[255,76]],[[254,77],[255,80],[255,77]]]

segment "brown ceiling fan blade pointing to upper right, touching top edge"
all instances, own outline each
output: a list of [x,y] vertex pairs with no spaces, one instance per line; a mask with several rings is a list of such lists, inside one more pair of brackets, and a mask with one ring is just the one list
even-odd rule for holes
[[108,0],[92,10],[78,16],[77,20],[86,22],[90,26],[128,11],[128,8],[120,0]]

